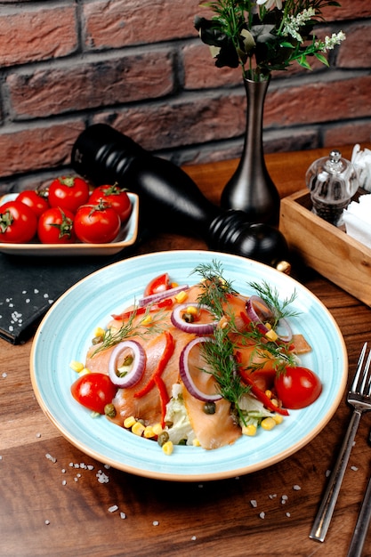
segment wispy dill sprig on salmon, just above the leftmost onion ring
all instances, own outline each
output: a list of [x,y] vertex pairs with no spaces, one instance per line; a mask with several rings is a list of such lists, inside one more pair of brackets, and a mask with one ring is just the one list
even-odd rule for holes
[[140,336],[141,338],[159,334],[164,330],[164,325],[162,322],[164,320],[164,310],[159,310],[153,315],[148,322],[150,307],[141,316],[141,319],[135,322],[137,317],[137,308],[134,308],[132,314],[129,316],[127,321],[123,322],[122,326],[118,329],[109,327],[103,336],[101,344],[93,352],[93,356],[100,351],[115,346],[115,344],[121,343],[127,338],[132,336]]

